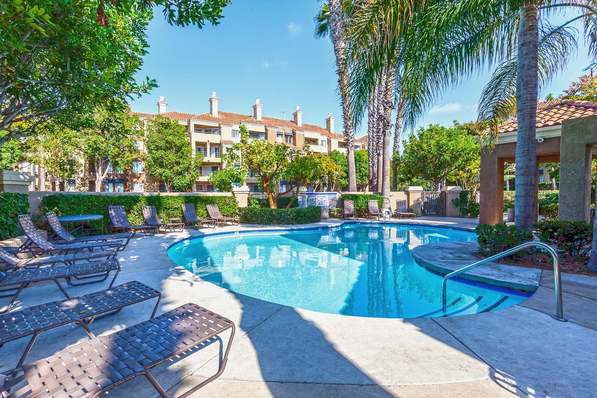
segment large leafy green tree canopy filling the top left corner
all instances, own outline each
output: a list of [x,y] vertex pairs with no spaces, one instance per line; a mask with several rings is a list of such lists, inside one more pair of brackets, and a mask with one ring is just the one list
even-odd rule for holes
[[109,11],[110,26],[91,19],[93,2],[15,0],[0,13],[0,144],[27,137],[61,115],[90,112],[107,98],[125,98],[156,87],[135,76],[148,47],[149,11]]

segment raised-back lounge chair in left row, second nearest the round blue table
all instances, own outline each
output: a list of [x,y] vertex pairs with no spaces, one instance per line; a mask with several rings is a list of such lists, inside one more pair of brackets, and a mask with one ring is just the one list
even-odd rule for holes
[[[17,216],[17,221],[19,221],[19,226],[27,236],[27,242],[22,246],[21,251],[29,252],[30,254],[36,256],[38,254],[44,253],[53,253],[53,252],[81,252],[84,249],[88,249],[88,251],[93,251],[95,248],[110,248],[115,249],[118,251],[120,246],[122,245],[122,240],[113,240],[110,242],[79,242],[79,243],[52,243],[50,240],[45,239],[45,237],[39,235],[39,232],[33,225],[33,221],[29,214],[21,214]],[[32,245],[35,244],[36,247]]]

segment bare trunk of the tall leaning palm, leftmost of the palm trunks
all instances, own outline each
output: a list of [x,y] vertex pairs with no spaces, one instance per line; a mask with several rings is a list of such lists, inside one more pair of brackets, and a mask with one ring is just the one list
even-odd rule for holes
[[346,151],[348,161],[348,190],[356,192],[356,170],[355,170],[355,130],[352,119],[352,104],[348,80],[348,60],[346,57],[346,26],[342,18],[341,0],[328,0],[330,5],[330,36],[334,45],[336,55],[336,73],[338,74],[338,86],[342,105],[342,116],[344,121],[344,137],[346,140]]

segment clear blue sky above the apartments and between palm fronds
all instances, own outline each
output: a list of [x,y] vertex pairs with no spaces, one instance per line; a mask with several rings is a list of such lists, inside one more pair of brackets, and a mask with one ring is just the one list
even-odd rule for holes
[[[216,91],[220,110],[251,115],[255,99],[260,98],[264,116],[291,119],[300,106],[303,122],[325,127],[328,112],[333,112],[340,131],[331,41],[313,37],[312,17],[318,4],[234,0],[218,26],[203,29],[170,26],[156,12],[147,30],[149,54],[139,75],[156,79],[159,88],[134,100],[131,108],[155,113],[158,96],[164,95],[168,110],[203,113]],[[586,54],[581,44],[568,70],[540,95],[557,95],[583,75],[589,64]],[[420,125],[476,119],[476,105],[489,79],[490,73],[481,73],[446,92]],[[366,128],[360,127],[358,137],[365,134]]]

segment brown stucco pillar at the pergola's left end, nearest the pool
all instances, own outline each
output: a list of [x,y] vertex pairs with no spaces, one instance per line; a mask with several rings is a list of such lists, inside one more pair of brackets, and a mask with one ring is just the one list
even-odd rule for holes
[[481,154],[479,224],[504,222],[504,160],[493,153]]

